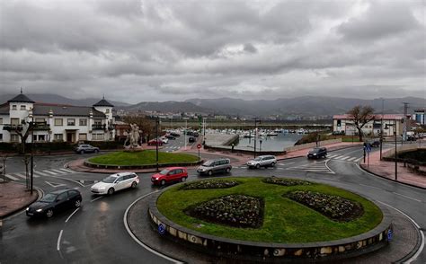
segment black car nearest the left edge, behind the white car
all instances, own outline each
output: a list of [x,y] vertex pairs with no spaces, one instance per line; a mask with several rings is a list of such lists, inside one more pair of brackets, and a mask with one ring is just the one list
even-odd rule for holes
[[80,207],[82,195],[76,189],[58,189],[46,194],[39,201],[27,207],[27,216],[52,217],[54,214],[69,208]]

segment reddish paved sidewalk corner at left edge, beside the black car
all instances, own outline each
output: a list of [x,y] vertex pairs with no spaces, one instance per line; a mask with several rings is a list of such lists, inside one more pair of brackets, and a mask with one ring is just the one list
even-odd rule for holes
[[[1,176],[0,176],[1,177]],[[0,220],[28,207],[39,198],[37,189],[31,192],[25,186],[12,181],[0,181]],[[0,224],[1,227],[1,224]]]

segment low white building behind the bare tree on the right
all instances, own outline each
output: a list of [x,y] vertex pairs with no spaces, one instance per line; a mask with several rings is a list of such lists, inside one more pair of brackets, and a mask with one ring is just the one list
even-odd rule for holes
[[[375,115],[375,119],[369,121],[361,130],[364,135],[379,136],[383,126],[383,136],[393,136],[394,131],[396,131],[396,135],[401,136],[404,129],[403,120],[403,114],[385,114],[383,115],[382,124],[382,115],[378,114]],[[333,132],[341,132],[351,136],[358,134],[358,129],[353,124],[351,115],[334,115]]]

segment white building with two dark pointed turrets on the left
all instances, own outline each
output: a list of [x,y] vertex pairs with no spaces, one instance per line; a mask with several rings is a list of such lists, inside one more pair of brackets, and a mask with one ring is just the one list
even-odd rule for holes
[[105,99],[92,107],[81,107],[35,102],[21,92],[0,105],[0,142],[20,142],[16,131],[25,132],[31,121],[36,123],[34,142],[113,140],[112,109]]

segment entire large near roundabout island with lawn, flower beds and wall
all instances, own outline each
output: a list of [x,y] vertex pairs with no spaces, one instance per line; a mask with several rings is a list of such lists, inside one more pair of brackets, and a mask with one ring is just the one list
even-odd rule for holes
[[[355,206],[348,210],[350,204]],[[329,210],[342,217],[333,219]],[[181,184],[156,193],[148,214],[165,237],[241,260],[340,260],[376,251],[392,232],[387,209],[366,198],[329,185],[275,177]]]

